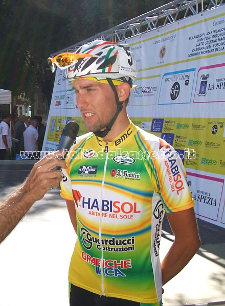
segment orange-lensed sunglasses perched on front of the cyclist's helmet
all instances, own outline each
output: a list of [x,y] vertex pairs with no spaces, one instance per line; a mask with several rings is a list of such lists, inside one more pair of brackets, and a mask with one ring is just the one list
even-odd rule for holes
[[77,63],[78,59],[84,57],[93,57],[93,55],[86,53],[60,53],[56,55],[54,58],[49,57],[48,63],[52,72],[54,72],[56,66],[58,66],[60,69],[65,69],[70,67],[72,64]]

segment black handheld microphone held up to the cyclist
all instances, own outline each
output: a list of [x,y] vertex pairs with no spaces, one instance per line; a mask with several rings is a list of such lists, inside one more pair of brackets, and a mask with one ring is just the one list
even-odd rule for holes
[[[67,154],[67,152],[69,151],[70,147],[72,146],[72,144],[74,143],[77,137],[79,128],[80,128],[79,124],[77,124],[74,121],[69,121],[65,125],[64,129],[62,130],[62,135],[61,135],[57,150],[66,150],[66,154]],[[56,166],[52,170],[60,170],[60,169],[61,167]]]

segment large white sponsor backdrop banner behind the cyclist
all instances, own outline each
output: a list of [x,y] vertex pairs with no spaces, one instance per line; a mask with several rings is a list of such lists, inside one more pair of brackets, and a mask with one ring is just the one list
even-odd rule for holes
[[[127,112],[174,146],[198,218],[225,227],[225,5],[126,40],[138,64]],[[72,83],[57,69],[43,150],[57,148],[69,120],[85,127]]]

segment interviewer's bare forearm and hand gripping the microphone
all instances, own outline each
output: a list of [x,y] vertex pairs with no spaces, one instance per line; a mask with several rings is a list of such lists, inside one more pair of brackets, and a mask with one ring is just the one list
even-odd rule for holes
[[0,205],[0,243],[10,234],[25,216],[33,203],[40,200],[51,188],[57,188],[62,180],[61,171],[55,166],[66,168],[63,160],[57,159],[62,151],[57,151],[37,162],[25,182]]

